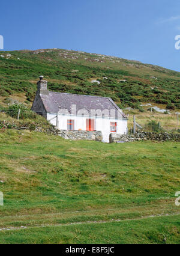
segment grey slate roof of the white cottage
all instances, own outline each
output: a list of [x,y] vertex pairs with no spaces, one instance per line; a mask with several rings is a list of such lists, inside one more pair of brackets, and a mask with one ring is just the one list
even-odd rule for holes
[[[67,109],[71,114],[71,105],[76,105],[76,110],[86,109],[89,112],[91,109],[108,109],[109,111],[115,110],[116,117],[118,117],[118,112],[121,109],[113,102],[112,99],[108,97],[98,97],[98,96],[86,96],[80,94],[70,94],[70,93],[55,93],[49,91],[48,94],[40,94],[43,100],[44,107],[47,112],[56,113],[59,109]],[[106,115],[105,115],[106,116]],[[127,118],[122,114],[122,118]]]

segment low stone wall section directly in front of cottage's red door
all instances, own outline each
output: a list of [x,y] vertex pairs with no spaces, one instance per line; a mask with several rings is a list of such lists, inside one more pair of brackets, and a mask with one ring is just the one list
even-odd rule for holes
[[101,132],[86,130],[59,130],[58,135],[64,139],[85,139],[87,141],[102,141],[103,136]]

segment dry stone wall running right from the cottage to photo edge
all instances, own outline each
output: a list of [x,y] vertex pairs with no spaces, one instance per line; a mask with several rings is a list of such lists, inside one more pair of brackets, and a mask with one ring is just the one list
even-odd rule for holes
[[121,135],[110,133],[109,141],[113,142],[131,142],[131,141],[180,141],[180,133],[155,133],[155,132],[138,132],[135,135]]

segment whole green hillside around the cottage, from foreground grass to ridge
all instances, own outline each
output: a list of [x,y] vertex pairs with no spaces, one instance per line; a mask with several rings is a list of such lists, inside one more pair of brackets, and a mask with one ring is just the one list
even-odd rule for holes
[[[30,111],[40,75],[51,91],[112,97],[129,128],[136,114],[145,130],[149,121],[178,130],[178,72],[74,50],[0,52],[0,243],[179,243],[178,142],[103,144],[34,132],[52,128]],[[23,103],[20,120],[14,102]]]

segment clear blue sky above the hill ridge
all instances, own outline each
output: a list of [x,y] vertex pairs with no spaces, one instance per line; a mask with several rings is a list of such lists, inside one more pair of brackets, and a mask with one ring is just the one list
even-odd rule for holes
[[6,0],[0,8],[4,50],[83,50],[180,72],[179,0]]

